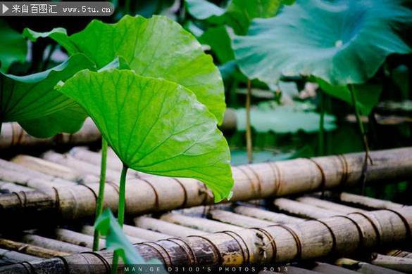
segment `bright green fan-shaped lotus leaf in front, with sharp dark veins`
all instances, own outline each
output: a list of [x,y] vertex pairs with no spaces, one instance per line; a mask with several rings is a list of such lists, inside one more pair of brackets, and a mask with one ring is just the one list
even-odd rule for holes
[[227,142],[192,91],[130,70],[82,71],[59,91],[85,108],[127,167],[196,178],[216,201],[230,193]]

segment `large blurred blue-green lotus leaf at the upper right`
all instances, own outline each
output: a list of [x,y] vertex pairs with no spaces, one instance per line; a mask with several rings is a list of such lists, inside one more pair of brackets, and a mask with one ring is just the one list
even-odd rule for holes
[[298,0],[274,18],[254,20],[233,48],[251,79],[274,83],[313,75],[330,84],[361,84],[392,53],[410,53],[397,32],[411,27],[403,0]]

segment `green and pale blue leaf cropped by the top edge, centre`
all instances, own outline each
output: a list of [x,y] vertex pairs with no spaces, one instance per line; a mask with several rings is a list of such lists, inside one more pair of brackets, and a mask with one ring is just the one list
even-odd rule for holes
[[187,10],[196,19],[218,25],[227,24],[236,34],[244,35],[254,18],[269,18],[279,11],[284,0],[232,0],[227,8],[220,8],[206,0],[186,0]]

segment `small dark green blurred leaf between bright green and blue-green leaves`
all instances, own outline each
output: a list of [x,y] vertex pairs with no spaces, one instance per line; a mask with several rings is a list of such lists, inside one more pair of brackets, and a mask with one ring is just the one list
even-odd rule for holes
[[223,26],[209,27],[199,37],[199,42],[211,46],[220,63],[227,63],[235,59],[235,53],[233,53],[231,45],[232,40]]

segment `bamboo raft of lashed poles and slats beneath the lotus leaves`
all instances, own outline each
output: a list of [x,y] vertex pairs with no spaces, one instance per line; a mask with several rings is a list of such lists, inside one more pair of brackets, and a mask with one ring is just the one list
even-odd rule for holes
[[[368,185],[412,178],[412,148],[371,157]],[[124,231],[144,259],[172,268],[412,273],[412,207],[342,192],[362,163],[354,153],[232,167],[233,196],[221,204],[199,181],[130,172]],[[91,251],[99,165],[82,147],[0,159],[0,216],[13,220],[0,226],[0,273],[110,273],[104,240]],[[113,212],[120,169],[109,152]]]

